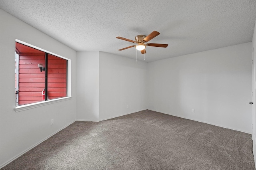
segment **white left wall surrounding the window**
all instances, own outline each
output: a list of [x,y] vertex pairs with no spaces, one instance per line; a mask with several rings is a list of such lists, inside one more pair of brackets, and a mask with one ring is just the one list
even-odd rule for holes
[[[0,167],[76,119],[76,51],[0,9]],[[67,101],[15,112],[15,39],[72,60]],[[54,124],[50,125],[50,120]]]

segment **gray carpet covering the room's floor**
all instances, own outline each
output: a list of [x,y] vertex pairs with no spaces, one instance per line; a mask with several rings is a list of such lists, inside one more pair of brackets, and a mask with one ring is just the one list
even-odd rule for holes
[[76,121],[2,170],[254,170],[251,134],[140,111]]

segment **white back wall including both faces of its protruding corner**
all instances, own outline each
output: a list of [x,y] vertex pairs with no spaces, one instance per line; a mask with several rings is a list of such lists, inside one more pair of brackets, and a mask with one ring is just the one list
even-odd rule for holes
[[146,80],[147,63],[101,51],[77,52],[76,119],[102,121],[147,109]]

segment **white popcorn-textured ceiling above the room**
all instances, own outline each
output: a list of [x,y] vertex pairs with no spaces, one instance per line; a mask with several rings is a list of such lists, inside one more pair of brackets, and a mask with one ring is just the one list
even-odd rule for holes
[[[146,62],[251,42],[256,0],[0,0],[0,8],[76,51],[136,59],[139,34],[156,30]],[[144,55],[138,51],[138,59]]]

